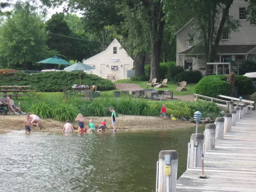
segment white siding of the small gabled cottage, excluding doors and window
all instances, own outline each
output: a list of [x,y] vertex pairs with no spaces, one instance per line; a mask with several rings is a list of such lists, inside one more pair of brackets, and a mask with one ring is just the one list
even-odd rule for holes
[[[117,47],[117,54],[113,54],[113,47]],[[114,62],[111,61],[111,58],[118,58],[119,60]],[[129,64],[129,70],[133,68],[132,58],[128,56],[126,50],[121,48],[121,44],[116,39],[105,51],[85,60],[84,63],[91,66],[95,65],[95,69],[88,71],[88,73],[91,72],[98,76],[100,76],[100,65],[105,64],[106,76],[107,74],[116,74],[116,79],[124,79],[124,64]],[[111,70],[111,66],[117,66],[118,70]]]

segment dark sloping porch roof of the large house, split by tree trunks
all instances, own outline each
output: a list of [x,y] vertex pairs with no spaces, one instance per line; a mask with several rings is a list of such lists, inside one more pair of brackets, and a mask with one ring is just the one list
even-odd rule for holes
[[[218,55],[245,55],[252,49],[256,48],[256,45],[220,45],[217,48]],[[183,52],[178,53],[180,55],[202,55],[204,54],[204,46],[194,46]]]

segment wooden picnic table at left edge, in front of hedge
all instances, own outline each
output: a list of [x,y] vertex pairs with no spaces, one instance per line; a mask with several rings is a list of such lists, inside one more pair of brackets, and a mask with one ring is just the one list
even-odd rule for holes
[[9,97],[15,97],[16,99],[21,96],[27,96],[29,91],[33,91],[29,89],[30,86],[12,86],[12,85],[4,85],[0,86],[0,92],[2,95],[6,95]]

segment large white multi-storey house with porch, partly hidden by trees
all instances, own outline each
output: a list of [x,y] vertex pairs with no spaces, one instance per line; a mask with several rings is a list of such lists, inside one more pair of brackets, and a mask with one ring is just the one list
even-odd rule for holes
[[[239,65],[243,60],[256,61],[256,27],[250,25],[250,21],[246,21],[246,7],[248,2],[241,0],[234,0],[229,9],[229,15],[234,19],[240,21],[241,27],[237,32],[223,33],[222,40],[217,49],[218,59],[215,62],[227,62]],[[192,27],[195,23],[192,18],[188,21],[180,30],[175,34],[177,36],[177,65],[183,66],[185,70],[201,70],[203,75],[206,71],[206,60],[204,59],[204,53],[193,53],[191,50],[194,48],[191,43]],[[195,39],[193,39],[195,40]],[[232,62],[234,61],[234,62]],[[226,71],[227,65],[218,66],[218,74]],[[222,69],[223,68],[223,69]],[[233,67],[232,71],[236,71],[237,68]],[[207,73],[216,73],[216,65],[213,71]]]

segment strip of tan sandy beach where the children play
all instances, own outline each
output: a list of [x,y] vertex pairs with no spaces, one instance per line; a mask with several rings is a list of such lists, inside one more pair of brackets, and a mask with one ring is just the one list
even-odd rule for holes
[[[111,117],[88,117],[88,122],[85,122],[85,126],[89,124],[89,119],[92,119],[95,126],[98,126],[102,119],[107,120],[107,127],[111,126]],[[25,115],[0,115],[0,132],[9,132],[12,130],[23,130],[23,123],[26,119]],[[75,129],[78,128],[78,123],[72,123]],[[41,119],[39,127],[31,127],[33,131],[61,131],[64,122],[54,121],[53,119]],[[170,118],[162,119],[152,116],[130,116],[118,114],[116,128],[117,130],[134,130],[134,131],[146,131],[146,130],[173,130],[173,129],[185,129],[193,127],[194,124],[176,120],[171,121]]]

